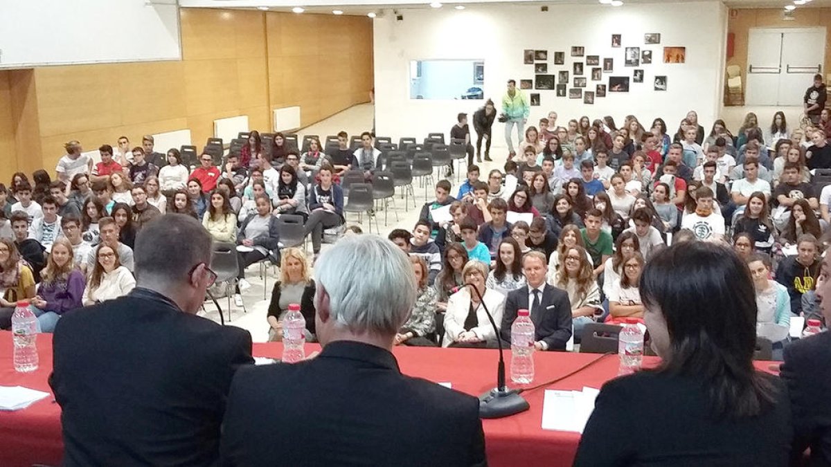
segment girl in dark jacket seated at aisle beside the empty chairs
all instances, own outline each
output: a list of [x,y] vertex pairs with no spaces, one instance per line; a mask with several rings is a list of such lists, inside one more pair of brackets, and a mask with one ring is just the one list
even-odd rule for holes
[[320,166],[317,173],[320,179],[308,194],[309,219],[306,221],[305,234],[312,234],[312,251],[315,259],[320,255],[320,245],[323,241],[323,229],[332,229],[342,225],[343,219],[343,190],[338,184],[332,183],[332,166]]

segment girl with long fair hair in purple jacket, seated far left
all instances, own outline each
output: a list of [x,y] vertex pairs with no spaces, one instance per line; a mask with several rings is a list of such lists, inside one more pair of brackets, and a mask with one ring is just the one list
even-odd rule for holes
[[59,237],[52,243],[41,278],[41,287],[32,298],[32,312],[37,316],[40,332],[52,332],[63,313],[81,307],[86,287],[84,273],[75,267],[69,240]]

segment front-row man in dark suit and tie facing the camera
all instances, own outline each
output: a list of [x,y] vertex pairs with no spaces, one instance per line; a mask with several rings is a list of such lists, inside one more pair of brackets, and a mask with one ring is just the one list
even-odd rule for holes
[[544,253],[525,253],[522,263],[528,285],[508,292],[499,336],[511,342],[511,325],[517,317],[517,310],[529,310],[534,322],[534,347],[537,350],[564,351],[572,334],[568,293],[545,283]]

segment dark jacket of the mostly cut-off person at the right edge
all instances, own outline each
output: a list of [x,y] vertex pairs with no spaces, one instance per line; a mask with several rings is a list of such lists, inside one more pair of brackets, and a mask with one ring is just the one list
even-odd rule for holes
[[831,332],[784,347],[780,376],[788,384],[794,414],[794,450],[811,448],[810,465],[831,465]]

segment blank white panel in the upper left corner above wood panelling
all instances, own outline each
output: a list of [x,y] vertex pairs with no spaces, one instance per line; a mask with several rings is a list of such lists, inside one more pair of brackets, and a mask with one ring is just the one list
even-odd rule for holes
[[172,0],[0,0],[0,68],[181,55]]

